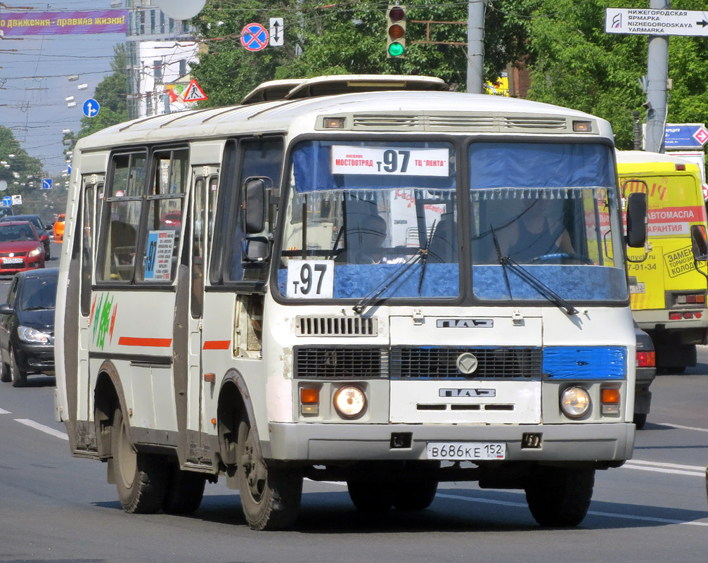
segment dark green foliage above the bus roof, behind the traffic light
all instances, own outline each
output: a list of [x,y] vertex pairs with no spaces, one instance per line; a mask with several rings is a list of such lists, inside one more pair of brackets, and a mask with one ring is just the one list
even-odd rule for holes
[[[508,62],[526,52],[527,16],[538,0],[498,0],[486,11],[485,76],[496,79]],[[200,106],[238,103],[261,82],[321,74],[426,74],[454,89],[465,89],[467,48],[426,45],[426,24],[415,21],[467,22],[467,2],[407,0],[406,57],[386,56],[387,3],[343,1],[323,6],[314,0],[278,2],[210,1],[194,23],[208,52],[191,69],[209,99]],[[247,23],[285,20],[285,45],[250,52],[239,35]],[[465,43],[467,25],[433,23],[430,40]]]

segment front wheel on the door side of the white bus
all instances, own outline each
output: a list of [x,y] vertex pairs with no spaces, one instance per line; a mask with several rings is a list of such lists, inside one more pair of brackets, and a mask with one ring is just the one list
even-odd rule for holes
[[258,435],[246,415],[239,421],[236,479],[241,508],[253,530],[283,530],[297,519],[302,499],[302,474],[268,467],[257,447]]

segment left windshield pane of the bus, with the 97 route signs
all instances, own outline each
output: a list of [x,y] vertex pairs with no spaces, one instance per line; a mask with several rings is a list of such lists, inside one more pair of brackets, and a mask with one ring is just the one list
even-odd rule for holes
[[290,184],[282,295],[459,296],[457,247],[438,245],[457,216],[452,144],[307,141]]

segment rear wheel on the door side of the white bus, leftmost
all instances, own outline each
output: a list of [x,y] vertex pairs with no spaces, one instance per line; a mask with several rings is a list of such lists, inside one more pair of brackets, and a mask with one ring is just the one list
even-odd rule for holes
[[113,415],[113,470],[120,506],[127,513],[152,514],[166,492],[166,464],[160,456],[135,452],[120,406]]

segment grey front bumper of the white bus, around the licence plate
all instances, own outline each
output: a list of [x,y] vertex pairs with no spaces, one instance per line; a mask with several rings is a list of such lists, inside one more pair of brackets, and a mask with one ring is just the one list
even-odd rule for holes
[[[406,425],[270,423],[263,456],[282,461],[428,459],[428,442],[504,442],[507,461],[622,462],[634,451],[634,423]],[[410,440],[407,438],[410,434]],[[540,436],[539,447],[522,447]],[[410,447],[396,447],[394,437]]]

